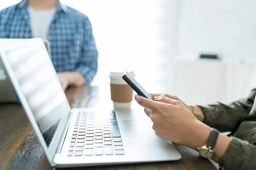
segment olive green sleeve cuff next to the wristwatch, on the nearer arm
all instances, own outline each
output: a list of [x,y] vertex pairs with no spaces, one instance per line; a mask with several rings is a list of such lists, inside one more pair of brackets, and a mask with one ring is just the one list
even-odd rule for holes
[[225,170],[255,170],[256,146],[232,137],[224,156]]

